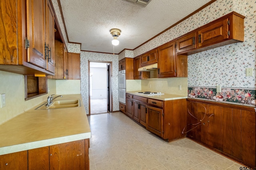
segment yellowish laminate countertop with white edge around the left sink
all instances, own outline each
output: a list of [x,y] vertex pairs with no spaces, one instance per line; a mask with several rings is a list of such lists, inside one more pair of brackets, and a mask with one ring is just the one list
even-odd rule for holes
[[1,124],[0,155],[90,138],[82,96],[56,98],[73,99],[80,100],[80,107],[36,110],[41,103]]

